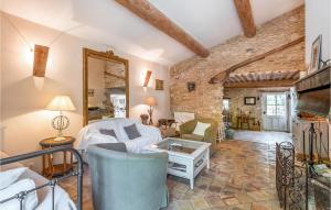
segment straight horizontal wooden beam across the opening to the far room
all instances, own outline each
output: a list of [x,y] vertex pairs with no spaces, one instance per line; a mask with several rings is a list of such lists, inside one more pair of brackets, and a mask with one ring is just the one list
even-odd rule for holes
[[264,81],[247,81],[247,82],[225,82],[224,88],[275,88],[275,87],[291,87],[295,86],[297,79],[285,80],[264,80]]

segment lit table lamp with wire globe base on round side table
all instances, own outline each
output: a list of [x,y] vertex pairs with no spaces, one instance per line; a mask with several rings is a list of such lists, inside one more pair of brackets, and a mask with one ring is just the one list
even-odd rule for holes
[[72,99],[68,96],[56,96],[46,107],[50,111],[60,111],[60,115],[55,117],[52,120],[53,129],[57,130],[57,136],[54,141],[63,141],[62,131],[67,129],[70,125],[70,120],[67,117],[63,115],[63,111],[75,111],[75,106],[73,104]]

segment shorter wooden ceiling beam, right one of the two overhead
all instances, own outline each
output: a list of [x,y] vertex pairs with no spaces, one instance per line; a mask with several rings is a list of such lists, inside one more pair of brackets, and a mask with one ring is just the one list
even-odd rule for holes
[[246,37],[253,37],[256,34],[256,27],[252,13],[249,0],[234,0],[241,23]]

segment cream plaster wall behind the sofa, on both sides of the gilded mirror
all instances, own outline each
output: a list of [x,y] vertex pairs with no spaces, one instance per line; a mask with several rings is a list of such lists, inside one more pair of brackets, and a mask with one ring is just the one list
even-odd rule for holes
[[[55,95],[72,96],[76,111],[65,113],[71,119],[71,126],[64,131],[64,134],[75,136],[78,133],[83,124],[82,48],[106,51],[107,47],[63,34],[50,46],[46,77],[34,78],[32,77],[33,53],[9,23],[8,18],[31,45],[49,45],[61,32],[2,13],[1,121],[6,126],[2,150],[14,155],[39,150],[39,142],[42,139],[55,135],[51,120],[57,113],[44,110]],[[115,51],[115,54],[129,59],[130,117],[139,118],[141,112],[146,112],[146,106],[140,103],[145,96],[153,95],[160,103],[156,110],[156,119],[168,118],[170,115],[168,68],[119,51]],[[164,79],[164,91],[156,91],[151,88],[143,91],[141,86],[147,69],[152,70],[150,87],[153,86],[154,78]],[[35,162],[40,163],[40,159]]]

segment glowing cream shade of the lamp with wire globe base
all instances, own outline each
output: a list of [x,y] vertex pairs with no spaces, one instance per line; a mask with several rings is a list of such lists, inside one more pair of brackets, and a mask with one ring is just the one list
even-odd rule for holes
[[56,96],[47,104],[47,110],[51,111],[74,111],[76,110],[72,99],[68,96]]

